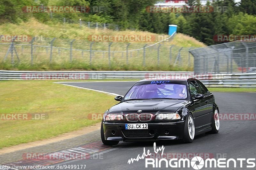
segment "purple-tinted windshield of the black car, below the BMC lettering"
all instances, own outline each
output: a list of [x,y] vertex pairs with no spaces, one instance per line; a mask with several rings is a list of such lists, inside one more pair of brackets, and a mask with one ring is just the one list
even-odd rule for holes
[[161,83],[155,82],[156,81],[135,84],[124,96],[124,100],[157,98],[186,99],[188,97],[186,85],[172,84],[170,81],[157,81]]

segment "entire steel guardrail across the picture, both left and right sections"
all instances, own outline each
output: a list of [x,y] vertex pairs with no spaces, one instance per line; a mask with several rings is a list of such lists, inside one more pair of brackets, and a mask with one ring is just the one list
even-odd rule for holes
[[195,77],[211,87],[256,87],[256,73],[194,75],[189,71],[4,71],[0,80],[182,79]]

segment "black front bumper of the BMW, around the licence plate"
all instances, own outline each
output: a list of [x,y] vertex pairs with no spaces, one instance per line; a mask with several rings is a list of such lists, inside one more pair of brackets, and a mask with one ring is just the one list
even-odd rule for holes
[[182,139],[185,121],[166,123],[148,122],[148,129],[129,130],[125,129],[125,123],[126,122],[103,122],[105,140],[155,141],[166,139]]

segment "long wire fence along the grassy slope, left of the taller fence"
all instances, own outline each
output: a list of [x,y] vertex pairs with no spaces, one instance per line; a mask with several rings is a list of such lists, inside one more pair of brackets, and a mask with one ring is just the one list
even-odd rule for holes
[[[171,45],[170,41],[153,44],[127,42],[91,42],[44,38],[29,42],[0,43],[0,61],[19,65],[81,64],[92,70],[193,70],[193,48]],[[74,68],[78,68],[74,66]]]

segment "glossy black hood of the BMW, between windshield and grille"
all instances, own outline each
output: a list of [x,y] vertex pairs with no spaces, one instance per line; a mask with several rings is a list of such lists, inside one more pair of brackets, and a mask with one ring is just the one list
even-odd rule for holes
[[188,100],[131,100],[121,102],[109,109],[109,113],[174,113],[181,106],[187,104]]

